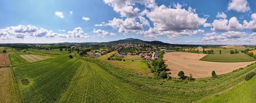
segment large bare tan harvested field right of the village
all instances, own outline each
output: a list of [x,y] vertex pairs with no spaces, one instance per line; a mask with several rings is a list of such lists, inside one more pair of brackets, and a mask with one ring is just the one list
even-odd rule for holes
[[195,78],[211,77],[212,71],[215,71],[217,75],[226,74],[236,70],[240,67],[245,67],[252,62],[209,62],[200,61],[205,54],[194,53],[165,53],[164,60],[168,64],[167,68],[170,69],[170,76],[178,77],[178,72],[184,71],[186,76],[192,74]]

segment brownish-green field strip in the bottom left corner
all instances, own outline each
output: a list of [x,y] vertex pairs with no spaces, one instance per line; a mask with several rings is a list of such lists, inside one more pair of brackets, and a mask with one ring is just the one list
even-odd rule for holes
[[0,68],[0,102],[21,102],[10,68]]

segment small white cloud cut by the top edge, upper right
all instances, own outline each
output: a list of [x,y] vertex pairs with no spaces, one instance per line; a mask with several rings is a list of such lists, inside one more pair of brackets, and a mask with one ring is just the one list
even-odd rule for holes
[[237,12],[246,12],[250,10],[247,0],[231,0],[228,4],[228,10]]

